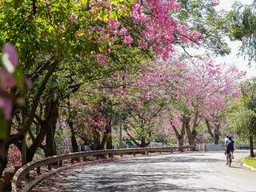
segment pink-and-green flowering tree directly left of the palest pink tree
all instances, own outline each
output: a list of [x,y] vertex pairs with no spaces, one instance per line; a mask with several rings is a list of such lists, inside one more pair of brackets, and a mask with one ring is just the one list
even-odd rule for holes
[[124,131],[136,146],[145,147],[154,140],[156,120],[166,111],[178,74],[178,67],[170,63],[149,62],[138,71],[138,77],[123,74],[123,86],[112,90],[127,109]]

